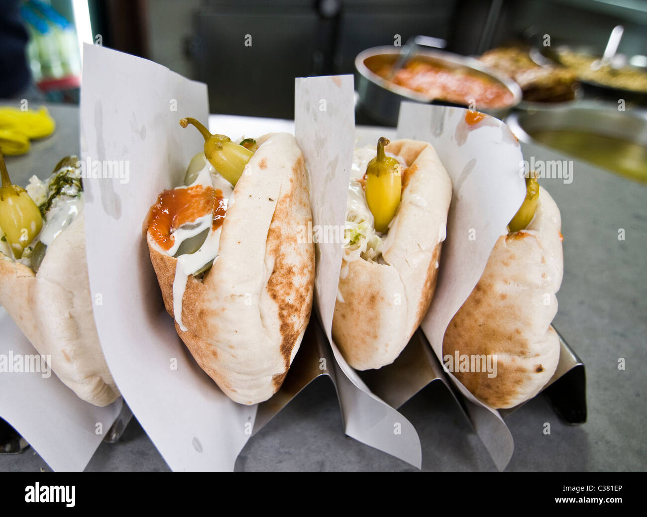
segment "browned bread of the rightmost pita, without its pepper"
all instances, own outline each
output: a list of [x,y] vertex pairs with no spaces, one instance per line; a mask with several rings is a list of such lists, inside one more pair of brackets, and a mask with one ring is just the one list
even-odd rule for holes
[[564,270],[561,225],[557,205],[540,188],[534,219],[525,230],[499,237],[481,280],[445,332],[443,356],[496,355],[496,377],[454,371],[493,408],[531,399],[557,368],[560,342],[550,324]]

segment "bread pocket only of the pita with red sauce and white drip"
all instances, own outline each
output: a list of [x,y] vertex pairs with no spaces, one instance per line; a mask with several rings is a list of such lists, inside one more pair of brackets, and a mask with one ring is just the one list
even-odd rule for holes
[[[183,332],[199,366],[233,401],[254,404],[280,388],[313,303],[314,244],[305,162],[289,133],[263,141],[234,188],[219,254],[202,280],[190,275]],[[173,314],[177,259],[147,232],[164,305]]]

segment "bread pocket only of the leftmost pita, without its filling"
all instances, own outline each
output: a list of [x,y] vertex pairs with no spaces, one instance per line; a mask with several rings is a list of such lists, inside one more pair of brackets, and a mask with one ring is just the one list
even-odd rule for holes
[[106,406],[120,395],[94,324],[85,212],[47,248],[37,274],[0,254],[0,304],[78,397]]

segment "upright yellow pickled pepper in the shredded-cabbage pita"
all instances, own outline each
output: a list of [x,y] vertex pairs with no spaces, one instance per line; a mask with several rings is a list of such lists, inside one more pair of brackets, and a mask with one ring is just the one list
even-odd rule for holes
[[386,232],[389,223],[400,204],[402,175],[400,164],[395,158],[384,154],[389,140],[380,137],[377,142],[377,156],[368,162],[366,168],[366,203],[375,218],[375,230]]

